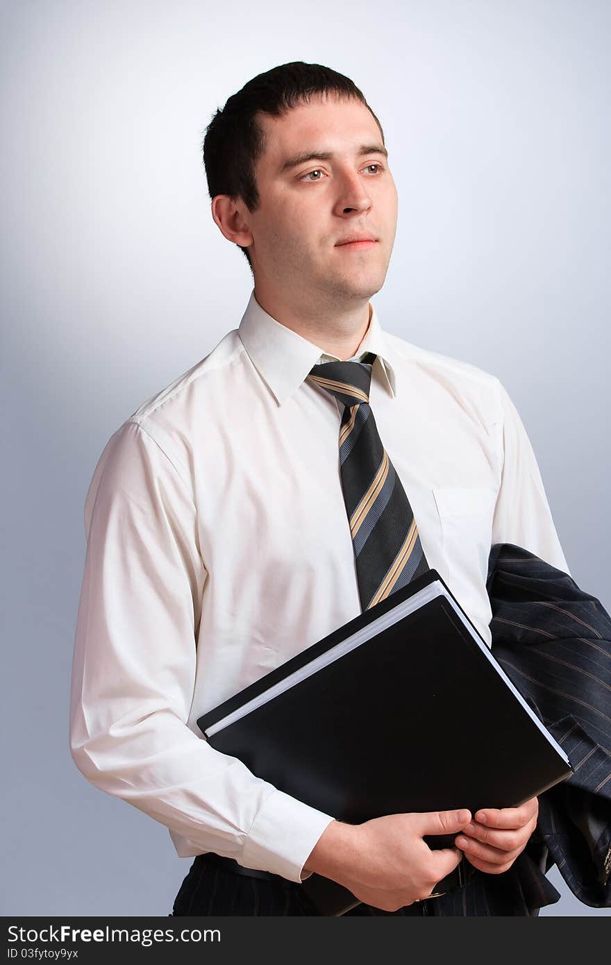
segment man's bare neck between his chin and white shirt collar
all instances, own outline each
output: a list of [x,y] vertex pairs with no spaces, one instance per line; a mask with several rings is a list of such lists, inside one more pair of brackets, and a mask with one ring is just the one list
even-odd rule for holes
[[369,299],[360,299],[343,309],[315,309],[295,306],[282,295],[262,293],[255,286],[255,298],[267,315],[290,328],[321,351],[345,360],[356,354],[372,318]]

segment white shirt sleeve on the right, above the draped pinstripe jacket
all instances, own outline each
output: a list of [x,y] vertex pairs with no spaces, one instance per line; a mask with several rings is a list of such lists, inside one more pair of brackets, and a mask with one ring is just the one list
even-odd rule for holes
[[569,573],[530,439],[506,389],[500,382],[497,385],[502,478],[492,522],[492,544],[509,542],[522,546]]

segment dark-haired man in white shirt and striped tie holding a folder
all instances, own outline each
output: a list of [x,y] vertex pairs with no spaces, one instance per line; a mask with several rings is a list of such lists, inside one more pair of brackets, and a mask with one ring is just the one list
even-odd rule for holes
[[[347,825],[214,751],[196,721],[423,567],[489,644],[492,542],[568,572],[535,455],[498,379],[380,327],[370,298],[397,190],[347,77],[299,62],[254,78],[209,124],[204,159],[212,217],[254,290],[238,329],[130,416],[97,464],[71,753],[165,824],[179,855],[198,855],[175,914],[313,914],[300,882],[315,871],[361,899],[348,914],[434,914],[428,896],[463,854],[491,875],[512,867],[536,798]],[[374,480],[357,493],[360,529],[348,469]],[[447,833],[456,847],[423,841]]]

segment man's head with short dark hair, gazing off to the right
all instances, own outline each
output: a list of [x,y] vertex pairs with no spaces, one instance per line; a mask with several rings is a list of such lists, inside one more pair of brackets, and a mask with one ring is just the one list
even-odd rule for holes
[[[258,288],[327,305],[381,288],[397,191],[381,125],[349,78],[302,62],[254,77],[208,124],[204,163],[212,216]],[[340,244],[353,235],[375,241]]]

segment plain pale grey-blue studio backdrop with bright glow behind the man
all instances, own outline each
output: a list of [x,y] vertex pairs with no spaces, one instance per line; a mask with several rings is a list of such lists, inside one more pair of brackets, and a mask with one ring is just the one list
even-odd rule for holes
[[[15,0],[2,20],[2,912],[165,915],[190,859],[77,771],[69,676],[97,458],[251,290],[211,220],[206,124],[291,60],[363,90],[400,194],[382,325],[500,377],[609,608],[611,5]],[[610,914],[549,876],[543,915]]]

